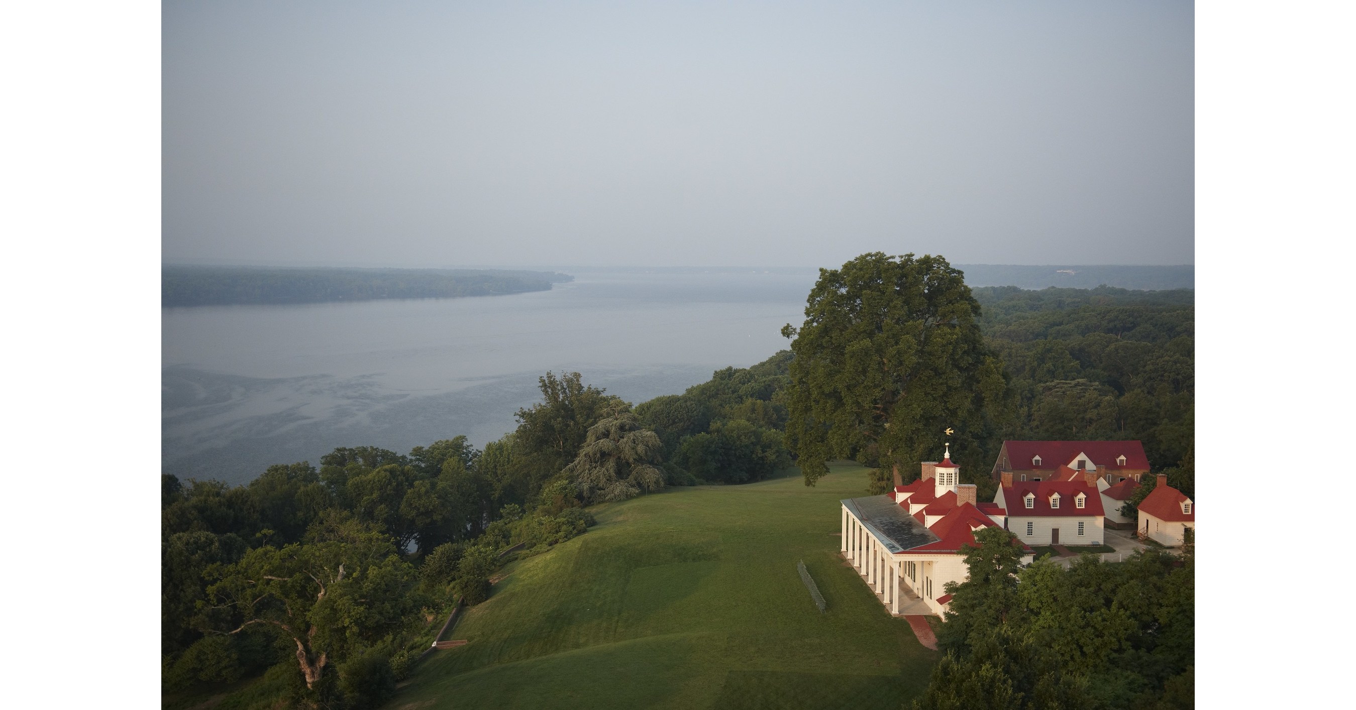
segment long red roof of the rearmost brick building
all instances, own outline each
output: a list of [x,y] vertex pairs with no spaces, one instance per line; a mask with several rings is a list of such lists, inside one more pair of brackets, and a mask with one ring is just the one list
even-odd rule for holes
[[[1016,482],[1048,481],[1067,467],[1119,484],[1149,474],[1144,444],[1125,442],[1003,442],[994,462],[995,481],[1012,473]],[[1067,474],[1066,474],[1067,476]]]

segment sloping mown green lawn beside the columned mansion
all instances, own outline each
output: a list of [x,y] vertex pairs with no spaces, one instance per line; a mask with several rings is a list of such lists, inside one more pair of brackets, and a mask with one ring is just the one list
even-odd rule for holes
[[[898,709],[937,653],[838,557],[834,466],[738,486],[677,488],[594,508],[598,526],[514,562],[466,610],[393,709]],[[804,558],[829,611],[801,584]]]

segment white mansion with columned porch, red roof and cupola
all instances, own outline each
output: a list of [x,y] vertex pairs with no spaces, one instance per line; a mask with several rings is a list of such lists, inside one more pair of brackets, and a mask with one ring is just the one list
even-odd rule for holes
[[[839,503],[842,554],[895,615],[942,614],[951,600],[946,583],[970,573],[963,554],[975,545],[975,531],[1006,520],[999,505],[975,500],[974,484],[960,482],[949,446],[941,462],[922,465],[922,478]],[[1029,562],[1031,549],[1022,550]]]

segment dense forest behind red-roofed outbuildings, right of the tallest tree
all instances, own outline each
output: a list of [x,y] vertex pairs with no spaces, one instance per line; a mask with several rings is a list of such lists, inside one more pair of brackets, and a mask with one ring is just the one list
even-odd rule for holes
[[1009,375],[1009,439],[1139,439],[1155,469],[1195,440],[1195,295],[976,289]]

